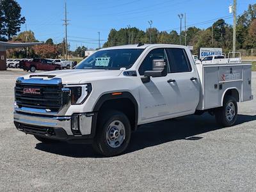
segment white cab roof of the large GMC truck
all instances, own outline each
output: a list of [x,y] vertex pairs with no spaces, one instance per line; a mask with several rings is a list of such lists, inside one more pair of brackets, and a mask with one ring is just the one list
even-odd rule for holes
[[185,48],[186,46],[183,45],[173,45],[173,44],[144,44],[138,46],[138,44],[133,45],[120,45],[115,47],[106,47],[100,50],[109,50],[109,49],[146,49],[147,47],[159,47],[159,46],[168,46],[168,47],[177,47],[177,48]]

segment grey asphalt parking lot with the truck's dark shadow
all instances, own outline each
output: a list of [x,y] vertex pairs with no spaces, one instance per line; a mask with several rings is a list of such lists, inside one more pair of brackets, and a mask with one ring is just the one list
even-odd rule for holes
[[[0,191],[256,191],[256,100],[239,104],[233,127],[207,114],[148,124],[106,158],[15,129],[13,87],[25,73],[0,72]],[[252,86],[256,97],[256,72]]]

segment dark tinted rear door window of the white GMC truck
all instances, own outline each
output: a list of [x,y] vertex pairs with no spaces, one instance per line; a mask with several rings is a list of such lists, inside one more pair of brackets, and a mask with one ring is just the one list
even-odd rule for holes
[[166,49],[171,73],[191,72],[192,68],[184,49]]

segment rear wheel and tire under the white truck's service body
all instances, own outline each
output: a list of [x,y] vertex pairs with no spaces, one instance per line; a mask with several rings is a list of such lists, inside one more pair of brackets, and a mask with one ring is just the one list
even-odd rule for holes
[[223,127],[230,127],[236,123],[237,101],[234,97],[225,97],[223,106],[215,111],[215,119]]

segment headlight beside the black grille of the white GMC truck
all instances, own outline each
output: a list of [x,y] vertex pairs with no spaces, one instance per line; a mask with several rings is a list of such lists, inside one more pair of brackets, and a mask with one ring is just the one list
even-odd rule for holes
[[92,92],[92,84],[81,84],[79,86],[68,86],[71,91],[71,104],[83,104]]

